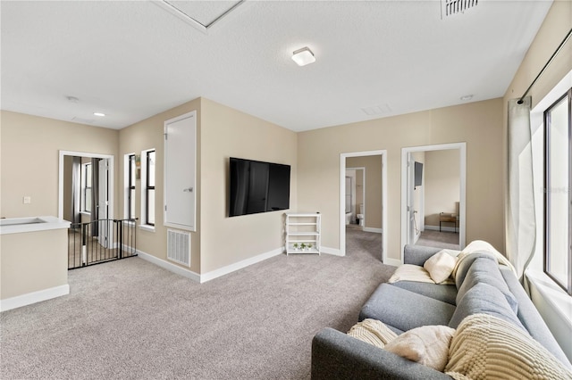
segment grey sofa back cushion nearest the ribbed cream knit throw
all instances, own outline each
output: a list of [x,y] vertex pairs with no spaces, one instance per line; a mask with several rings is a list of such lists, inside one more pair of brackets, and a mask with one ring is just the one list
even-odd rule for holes
[[471,287],[457,303],[457,309],[450,318],[449,326],[457,328],[463,319],[477,313],[504,319],[526,331],[518,320],[517,314],[510,309],[505,296],[492,285],[479,283]]

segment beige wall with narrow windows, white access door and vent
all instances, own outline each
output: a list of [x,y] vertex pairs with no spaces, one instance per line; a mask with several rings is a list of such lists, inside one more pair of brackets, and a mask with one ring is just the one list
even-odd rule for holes
[[[135,153],[140,154],[141,151],[148,149],[156,150],[156,204],[155,216],[156,225],[155,231],[148,231],[138,228],[137,230],[137,249],[146,252],[150,255],[156,256],[158,259],[167,260],[167,228],[164,227],[164,121],[170,120],[182,114],[197,111],[197,141],[200,141],[201,136],[201,100],[195,99],[188,103],[181,104],[166,112],[161,112],[147,120],[139,121],[128,128],[123,128],[119,132],[119,172],[124,171],[124,156],[125,154]],[[197,145],[197,178],[200,175],[200,152],[201,146]],[[125,198],[125,184],[123,174],[120,175],[118,188],[121,189],[120,196],[120,210],[123,215]],[[141,218],[140,204],[141,204],[141,180],[138,179],[135,184],[135,216]],[[201,189],[197,189],[197,215],[200,215],[200,199]],[[198,219],[197,231],[191,232],[191,262],[190,270],[200,273],[200,232],[201,225]],[[169,261],[172,262],[172,261]],[[174,265],[178,265],[172,262]],[[185,268],[184,266],[182,266]],[[189,268],[187,268],[189,269]]]

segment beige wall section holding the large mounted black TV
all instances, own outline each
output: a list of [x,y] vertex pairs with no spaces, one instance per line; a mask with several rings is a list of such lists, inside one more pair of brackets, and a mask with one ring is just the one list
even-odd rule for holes
[[203,98],[201,145],[201,273],[280,249],[284,211],[228,217],[229,158],[290,165],[290,211],[296,211],[297,134]]

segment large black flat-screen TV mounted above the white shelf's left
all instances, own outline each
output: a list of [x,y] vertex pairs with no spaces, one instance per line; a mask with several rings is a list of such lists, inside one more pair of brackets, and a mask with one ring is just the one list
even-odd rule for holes
[[290,209],[290,165],[230,159],[229,217]]

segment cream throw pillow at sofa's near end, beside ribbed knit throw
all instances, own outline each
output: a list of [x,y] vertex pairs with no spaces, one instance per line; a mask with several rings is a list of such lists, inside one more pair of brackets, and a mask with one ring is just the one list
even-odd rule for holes
[[416,327],[385,344],[385,350],[442,372],[454,334],[449,326]]

